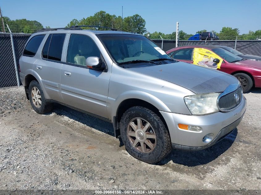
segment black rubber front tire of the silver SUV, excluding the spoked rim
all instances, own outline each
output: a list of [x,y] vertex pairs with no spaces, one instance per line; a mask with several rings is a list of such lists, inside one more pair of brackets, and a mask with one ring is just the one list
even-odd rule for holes
[[[154,142],[154,149],[151,152],[144,153],[138,151],[129,140],[127,133],[128,124],[132,120],[135,120],[135,118],[141,118],[146,120],[146,122],[150,124],[151,128],[154,131],[156,141]],[[123,114],[120,120],[120,133],[122,141],[128,153],[134,158],[137,158],[138,160],[141,160],[149,164],[154,164],[156,162],[161,161],[170,153],[172,149],[170,136],[164,123],[157,114],[155,114],[148,108],[144,108],[141,106],[129,108]],[[148,147],[147,145],[145,146]]]

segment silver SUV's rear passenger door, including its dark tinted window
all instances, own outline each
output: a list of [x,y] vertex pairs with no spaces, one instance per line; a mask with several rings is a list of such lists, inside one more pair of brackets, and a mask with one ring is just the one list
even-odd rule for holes
[[41,56],[35,61],[33,70],[41,77],[47,97],[63,103],[61,96],[61,55],[65,40],[64,33],[49,34]]

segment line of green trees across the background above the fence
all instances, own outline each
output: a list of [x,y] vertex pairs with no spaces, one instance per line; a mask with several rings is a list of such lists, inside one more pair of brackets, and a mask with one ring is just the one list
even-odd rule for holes
[[[43,25],[36,20],[27,20],[27,19],[16,19],[11,20],[8,17],[3,17],[3,21],[5,24],[6,32],[8,29],[6,28],[6,23],[10,27],[13,33],[34,33],[37,30],[43,28]],[[72,19],[67,26],[80,26],[80,25],[88,25],[88,26],[105,26],[111,27],[118,30],[123,30],[127,32],[133,32],[141,35],[145,35],[149,39],[176,39],[176,32],[172,32],[171,34],[164,34],[162,32],[153,32],[150,33],[146,30],[146,21],[139,14],[134,14],[133,16],[127,16],[122,18],[121,16],[111,15],[106,13],[105,11],[96,12],[94,15],[89,16],[87,18],[82,18],[80,20]],[[45,26],[45,28],[50,28],[50,26]],[[84,29],[94,29],[94,28],[86,28]],[[99,29],[104,30],[104,29]],[[2,25],[0,25],[0,31],[2,32]],[[198,30],[196,33],[207,32],[207,30]],[[211,30],[211,32],[216,33],[220,40],[235,40],[236,38],[239,40],[249,40],[249,39],[261,39],[261,30],[249,31],[246,34],[239,35],[240,31],[238,28],[231,27],[223,27],[220,32],[216,32],[215,30]],[[187,34],[183,30],[179,31],[179,40],[187,40],[189,37],[194,34]]]

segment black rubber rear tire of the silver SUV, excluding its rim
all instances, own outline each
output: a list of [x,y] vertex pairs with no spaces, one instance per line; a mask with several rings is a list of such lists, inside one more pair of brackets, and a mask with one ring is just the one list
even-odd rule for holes
[[[39,103],[37,104],[38,106],[40,106],[39,108],[37,107],[37,105],[34,104],[35,101],[33,101],[33,97],[32,97],[32,94],[33,94],[32,91],[33,91],[33,89],[35,89],[34,87],[36,87],[36,89],[38,89],[40,91],[41,104],[39,104]],[[31,103],[33,109],[35,110],[35,112],[37,112],[38,114],[44,114],[46,112],[50,112],[53,109],[53,104],[46,101],[42,87],[36,80],[33,80],[29,84],[28,94],[29,94],[30,103]],[[36,100],[36,99],[34,99],[34,100]]]

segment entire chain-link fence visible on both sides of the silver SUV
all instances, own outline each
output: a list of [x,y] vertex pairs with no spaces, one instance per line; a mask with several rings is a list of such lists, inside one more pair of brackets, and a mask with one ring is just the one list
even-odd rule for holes
[[[31,35],[13,34],[15,55],[19,66],[19,58],[23,53],[23,48]],[[168,51],[176,46],[175,40],[153,39],[154,43],[164,51]],[[179,46],[186,45],[220,45],[235,48],[243,54],[261,56],[260,40],[229,40],[229,41],[179,41]],[[0,33],[0,87],[16,86],[15,63],[11,45],[10,33]]]

